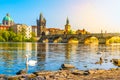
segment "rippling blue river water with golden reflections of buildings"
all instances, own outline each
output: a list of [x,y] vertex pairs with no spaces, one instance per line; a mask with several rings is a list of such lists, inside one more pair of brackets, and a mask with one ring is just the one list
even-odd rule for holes
[[[98,53],[101,52],[101,53]],[[0,74],[16,75],[26,70],[26,57],[37,61],[28,66],[28,73],[41,70],[59,70],[61,64],[73,64],[79,70],[117,68],[111,59],[120,59],[120,45],[0,43]],[[102,64],[95,64],[100,57]]]

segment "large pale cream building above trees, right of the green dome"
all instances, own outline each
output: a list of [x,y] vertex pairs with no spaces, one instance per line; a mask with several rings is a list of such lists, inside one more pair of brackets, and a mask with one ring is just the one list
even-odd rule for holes
[[31,38],[32,27],[25,24],[15,24],[11,26],[12,30],[17,34],[25,35],[27,39]]

